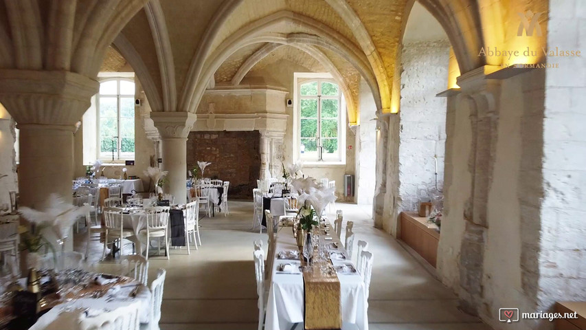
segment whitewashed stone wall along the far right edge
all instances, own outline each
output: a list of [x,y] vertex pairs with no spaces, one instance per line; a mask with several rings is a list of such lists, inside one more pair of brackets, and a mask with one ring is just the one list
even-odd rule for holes
[[[550,1],[548,47],[586,51],[585,1]],[[548,63],[559,68],[545,75],[539,269],[530,274],[543,309],[586,300],[586,58]]]

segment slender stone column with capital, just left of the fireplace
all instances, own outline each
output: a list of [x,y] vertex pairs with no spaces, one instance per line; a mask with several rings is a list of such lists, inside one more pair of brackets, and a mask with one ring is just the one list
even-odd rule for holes
[[162,169],[167,170],[166,192],[175,197],[175,203],[185,203],[187,193],[187,137],[196,120],[195,113],[184,111],[151,112],[150,118],[161,135]]

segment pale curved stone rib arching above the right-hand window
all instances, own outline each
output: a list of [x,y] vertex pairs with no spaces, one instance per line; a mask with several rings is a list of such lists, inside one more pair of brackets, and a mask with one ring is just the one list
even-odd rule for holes
[[[262,61],[263,58],[269,56],[272,52],[278,50],[278,48],[282,46],[284,45],[280,43],[269,43],[262,47],[260,50],[256,51],[254,54],[252,54],[249,58],[247,58],[245,63],[243,63],[243,65],[241,65],[240,68],[238,68],[238,72],[236,72],[234,78],[232,78],[232,85],[239,85],[242,79],[254,67],[254,65],[256,65],[256,63],[259,63],[260,61]],[[352,98],[352,94],[350,93],[350,88],[348,87],[346,80],[344,80],[343,76],[340,74],[339,70],[334,65],[334,63],[332,63],[330,58],[328,58],[328,56],[326,56],[326,54],[324,54],[323,52],[320,52],[316,47],[311,45],[294,43],[291,46],[299,50],[302,50],[306,52],[309,56],[315,58],[317,61],[319,61],[320,64],[326,67],[330,74],[332,74],[334,79],[340,85],[342,89],[342,94],[344,95],[344,99],[346,100],[346,106],[348,108],[348,122],[350,122],[350,124],[355,124],[358,118],[357,104],[356,102],[354,102],[354,98]]]

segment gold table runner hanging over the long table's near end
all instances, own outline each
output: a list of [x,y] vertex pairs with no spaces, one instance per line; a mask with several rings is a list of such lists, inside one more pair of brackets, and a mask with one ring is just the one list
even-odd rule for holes
[[[302,253],[300,259],[305,265]],[[316,262],[313,272],[303,272],[305,329],[341,329],[340,281],[335,272],[324,273],[319,266]]]

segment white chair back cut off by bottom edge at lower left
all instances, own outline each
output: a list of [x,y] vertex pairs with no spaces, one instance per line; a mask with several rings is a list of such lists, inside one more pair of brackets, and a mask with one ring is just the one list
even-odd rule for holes
[[93,318],[81,318],[73,330],[139,330],[140,302],[104,311]]

